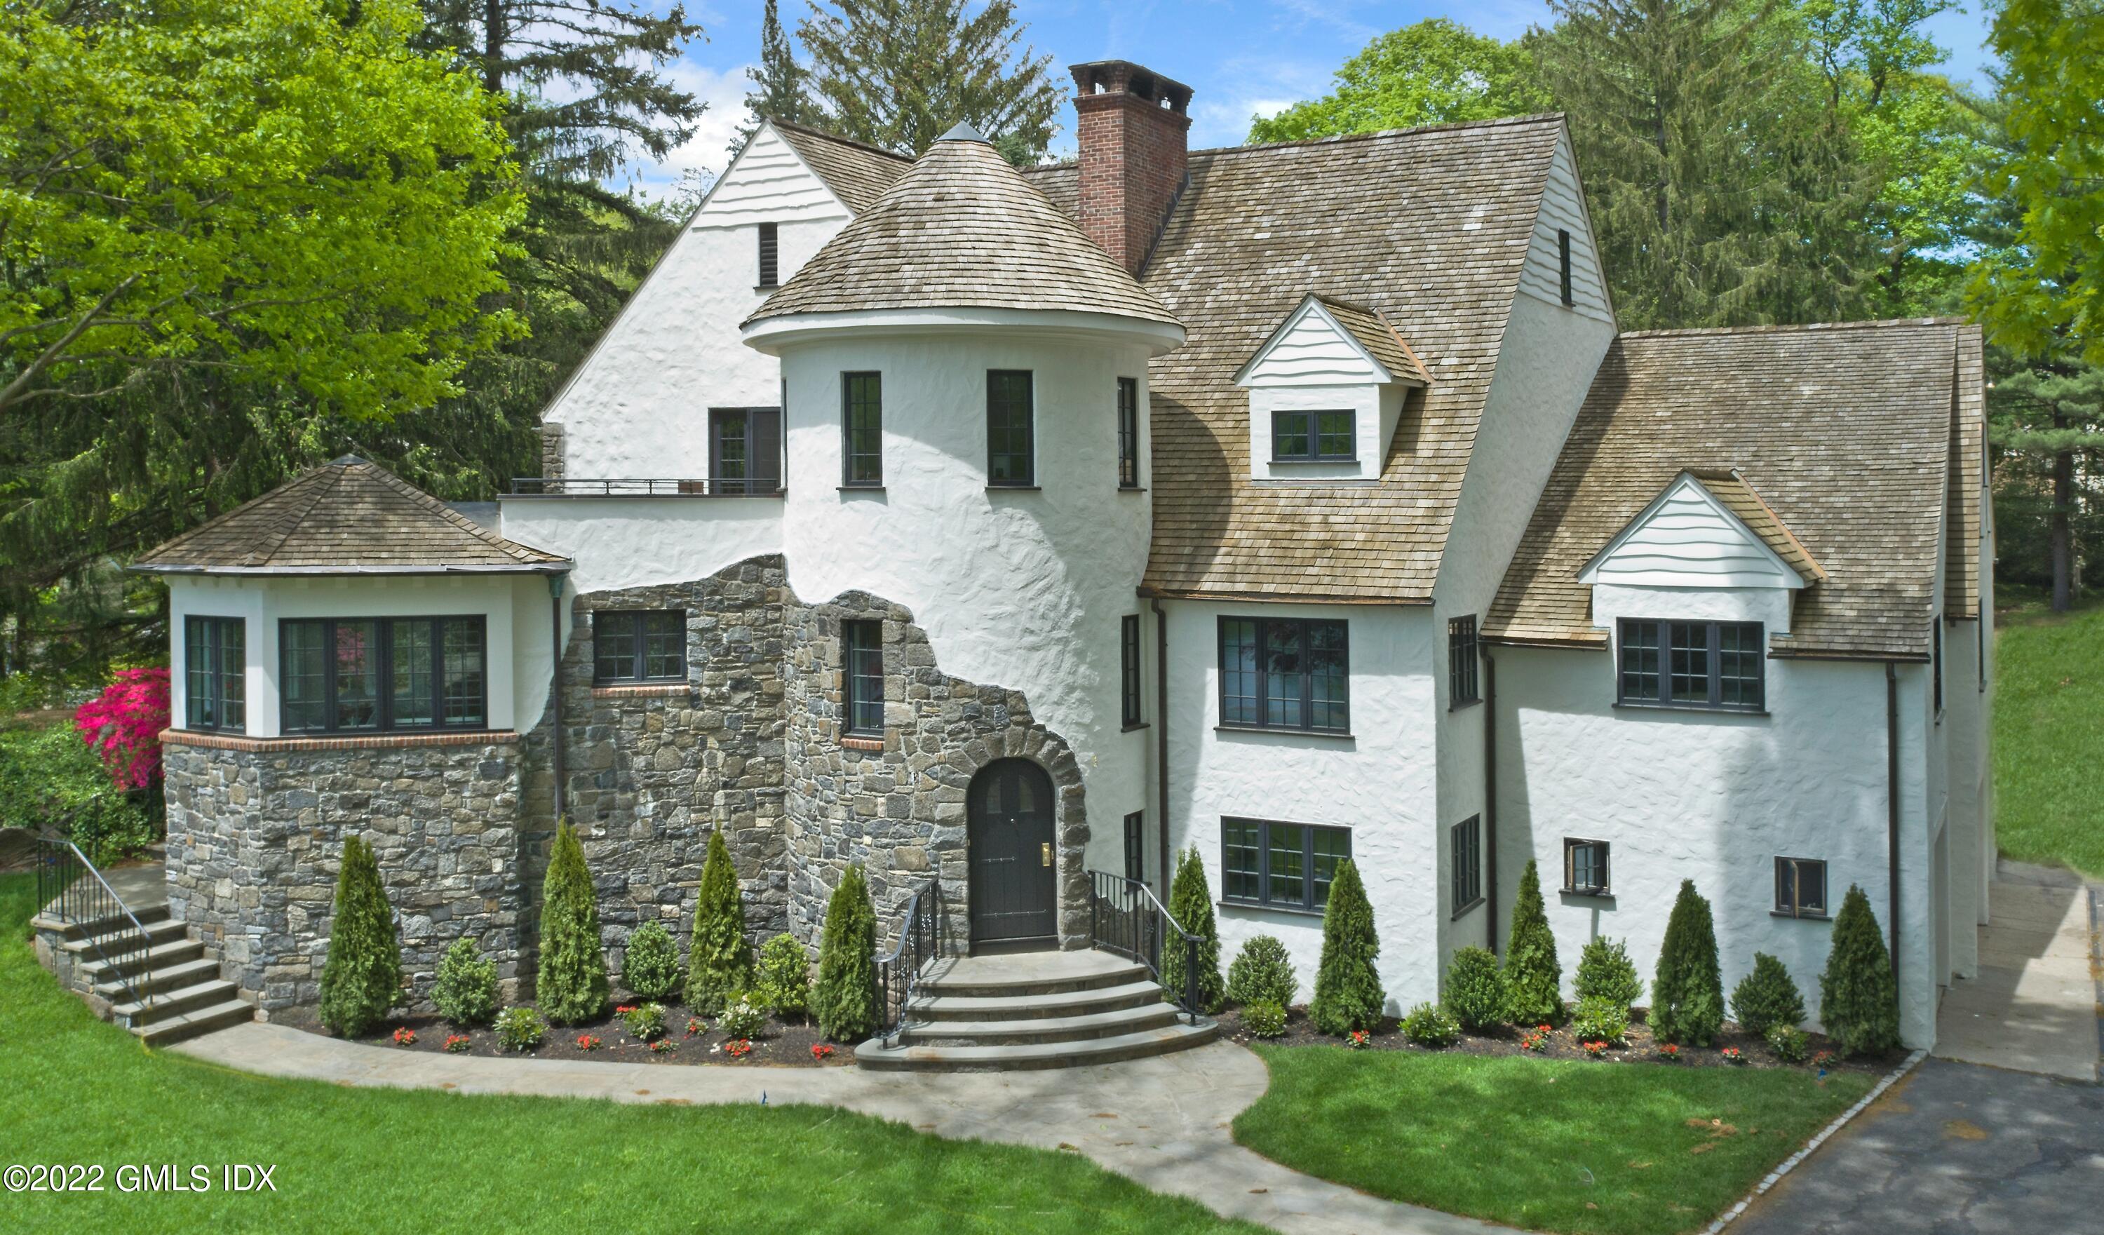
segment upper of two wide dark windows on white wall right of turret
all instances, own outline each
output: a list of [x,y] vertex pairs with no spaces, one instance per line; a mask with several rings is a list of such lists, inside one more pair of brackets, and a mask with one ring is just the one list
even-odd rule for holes
[[1222,616],[1220,724],[1349,732],[1344,623]]

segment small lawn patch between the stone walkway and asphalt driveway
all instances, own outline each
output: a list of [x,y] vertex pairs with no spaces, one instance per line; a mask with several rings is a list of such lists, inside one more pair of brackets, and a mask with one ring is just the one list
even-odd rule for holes
[[1235,1119],[1235,1140],[1265,1157],[1414,1206],[1586,1235],[1708,1222],[1875,1084],[1803,1069],[1256,1052],[1271,1090]]

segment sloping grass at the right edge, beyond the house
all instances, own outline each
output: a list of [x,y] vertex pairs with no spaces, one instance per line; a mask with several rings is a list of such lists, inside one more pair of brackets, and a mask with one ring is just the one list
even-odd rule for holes
[[2018,598],[1995,635],[1995,831],[2001,852],[2104,879],[2104,604]]

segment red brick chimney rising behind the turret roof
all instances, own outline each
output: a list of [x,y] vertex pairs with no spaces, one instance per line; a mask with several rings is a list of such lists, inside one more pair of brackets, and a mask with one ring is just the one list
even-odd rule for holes
[[1081,231],[1140,274],[1189,156],[1191,86],[1132,61],[1073,65],[1081,147]]

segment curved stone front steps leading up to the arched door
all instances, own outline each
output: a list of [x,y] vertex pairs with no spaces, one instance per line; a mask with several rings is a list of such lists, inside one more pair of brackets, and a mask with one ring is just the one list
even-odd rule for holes
[[945,957],[922,974],[905,1027],[854,1048],[871,1071],[1020,1071],[1117,1062],[1203,1046],[1147,966],[1102,951]]

